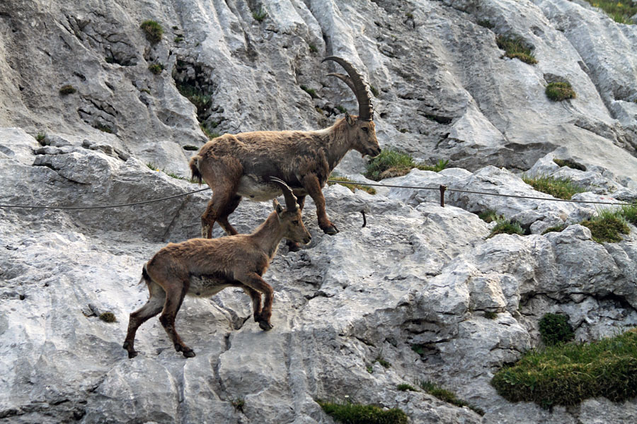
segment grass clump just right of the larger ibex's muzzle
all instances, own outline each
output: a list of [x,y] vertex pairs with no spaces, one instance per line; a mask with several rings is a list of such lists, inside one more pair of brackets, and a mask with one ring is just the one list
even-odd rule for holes
[[449,160],[438,160],[435,165],[423,165],[415,163],[411,155],[391,149],[381,151],[376,158],[372,158],[367,163],[365,177],[379,181],[384,178],[401,177],[406,175],[413,168],[423,171],[440,172],[449,164]]

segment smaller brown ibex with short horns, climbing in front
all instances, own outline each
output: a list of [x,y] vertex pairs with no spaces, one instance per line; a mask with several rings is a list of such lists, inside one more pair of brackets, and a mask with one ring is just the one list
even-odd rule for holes
[[[274,292],[261,276],[270,266],[283,237],[306,244],[311,235],[301,220],[297,198],[287,184],[277,178],[269,179],[267,184],[283,192],[286,208],[275,200],[275,211],[252,234],[169,243],[144,265],[142,280],[150,295],[146,305],[130,314],[123,346],[129,358],[137,355],[134,349],[137,328],[159,312],[159,322],[176,351],[183,352],[187,358],[195,356],[175,329],[175,317],[186,294],[209,297],[226,287],[243,288],[252,298],[254,320],[263,330],[272,328]],[[261,293],[265,294],[263,309]]]

